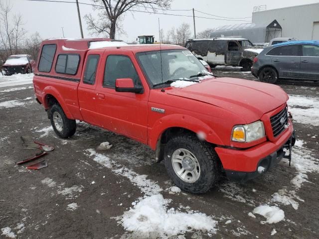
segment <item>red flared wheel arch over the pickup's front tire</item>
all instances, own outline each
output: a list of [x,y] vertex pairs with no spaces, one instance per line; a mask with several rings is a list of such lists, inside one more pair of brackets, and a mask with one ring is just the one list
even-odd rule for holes
[[185,128],[194,133],[204,133],[207,142],[223,145],[221,139],[209,125],[191,116],[183,114],[168,115],[158,119],[154,125],[153,128],[148,128],[149,145],[153,150],[156,149],[161,134],[171,127]]

